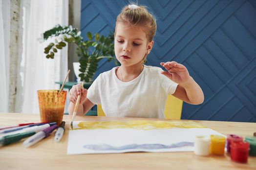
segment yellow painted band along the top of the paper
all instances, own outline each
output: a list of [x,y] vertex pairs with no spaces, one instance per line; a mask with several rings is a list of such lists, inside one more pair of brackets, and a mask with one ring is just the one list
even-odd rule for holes
[[170,129],[170,128],[205,128],[194,121],[81,121],[78,123],[79,128],[75,129]]

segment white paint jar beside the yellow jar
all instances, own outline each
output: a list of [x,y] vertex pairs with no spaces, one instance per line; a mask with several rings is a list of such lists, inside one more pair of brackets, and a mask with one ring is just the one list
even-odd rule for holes
[[208,156],[210,154],[210,138],[208,136],[195,136],[194,153],[200,156]]

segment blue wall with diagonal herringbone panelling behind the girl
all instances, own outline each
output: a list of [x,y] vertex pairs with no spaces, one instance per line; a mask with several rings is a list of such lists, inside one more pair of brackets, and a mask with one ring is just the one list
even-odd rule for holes
[[[147,65],[177,61],[205,102],[184,103],[182,119],[256,122],[256,0],[138,0],[157,19]],[[81,31],[109,34],[128,0],[82,0]],[[94,78],[115,67],[102,60]]]

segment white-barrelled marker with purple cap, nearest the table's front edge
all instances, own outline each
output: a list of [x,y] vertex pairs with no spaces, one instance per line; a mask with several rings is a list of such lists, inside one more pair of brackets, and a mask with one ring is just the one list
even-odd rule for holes
[[40,131],[40,132],[36,133],[33,136],[30,136],[29,138],[27,138],[23,142],[23,146],[27,148],[27,147],[30,147],[31,145],[34,145],[38,141],[40,141],[43,138],[46,138],[47,136],[49,136],[52,133],[52,131],[54,131],[57,127],[58,126],[55,124],[51,127],[48,127],[46,129],[44,129],[43,131]]

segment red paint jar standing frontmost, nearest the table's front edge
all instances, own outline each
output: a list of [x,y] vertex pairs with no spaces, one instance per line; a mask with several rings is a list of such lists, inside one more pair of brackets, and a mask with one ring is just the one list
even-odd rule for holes
[[230,146],[231,160],[239,163],[247,163],[250,144],[248,142],[232,142]]

